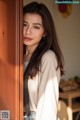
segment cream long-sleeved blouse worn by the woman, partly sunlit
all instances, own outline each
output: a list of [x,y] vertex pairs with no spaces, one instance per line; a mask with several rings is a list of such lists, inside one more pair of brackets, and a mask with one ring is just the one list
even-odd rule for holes
[[42,57],[41,71],[28,80],[30,110],[36,113],[35,120],[57,120],[60,69],[53,51]]

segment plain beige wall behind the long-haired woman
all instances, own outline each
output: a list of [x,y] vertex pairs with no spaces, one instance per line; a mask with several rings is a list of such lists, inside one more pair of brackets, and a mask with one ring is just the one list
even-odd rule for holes
[[[34,0],[24,0],[24,5]],[[80,5],[72,5],[72,13],[68,18],[63,18],[53,0],[35,0],[45,3],[53,16],[58,41],[65,59],[66,74],[68,79],[75,75],[80,76]]]

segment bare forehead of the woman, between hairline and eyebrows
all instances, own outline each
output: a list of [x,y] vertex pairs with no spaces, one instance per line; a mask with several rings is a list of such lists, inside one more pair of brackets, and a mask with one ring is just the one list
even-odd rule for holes
[[24,21],[42,24],[42,17],[37,13],[26,13],[24,15]]

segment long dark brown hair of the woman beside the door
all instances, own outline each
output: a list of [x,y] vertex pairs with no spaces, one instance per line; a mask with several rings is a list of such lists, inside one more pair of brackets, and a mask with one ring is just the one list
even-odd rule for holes
[[43,3],[32,2],[24,6],[23,13],[24,15],[26,13],[39,14],[42,17],[42,23],[46,33],[45,40],[44,38],[42,38],[38,47],[34,51],[27,66],[27,69],[24,73],[24,77],[28,78],[30,76],[31,78],[33,78],[36,75],[36,73],[39,71],[41,58],[43,54],[49,49],[54,51],[54,53],[56,54],[58,61],[57,68],[60,68],[61,75],[63,75],[64,74],[63,55],[57,41],[53,19],[48,8]]

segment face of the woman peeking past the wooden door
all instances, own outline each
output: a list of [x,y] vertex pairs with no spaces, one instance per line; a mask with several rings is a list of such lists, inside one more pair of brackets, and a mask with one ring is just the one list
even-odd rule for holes
[[40,15],[36,13],[26,13],[24,15],[23,37],[24,44],[27,47],[37,47],[41,38],[44,37],[44,27]]

